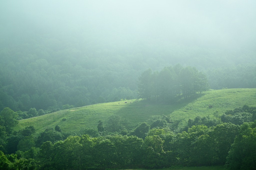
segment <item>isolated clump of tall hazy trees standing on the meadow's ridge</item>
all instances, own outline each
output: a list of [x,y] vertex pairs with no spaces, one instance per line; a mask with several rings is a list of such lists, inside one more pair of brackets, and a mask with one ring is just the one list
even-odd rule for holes
[[209,89],[206,74],[195,67],[165,67],[160,72],[144,71],[138,78],[138,92],[140,98],[170,100],[176,96],[187,98],[195,93]]

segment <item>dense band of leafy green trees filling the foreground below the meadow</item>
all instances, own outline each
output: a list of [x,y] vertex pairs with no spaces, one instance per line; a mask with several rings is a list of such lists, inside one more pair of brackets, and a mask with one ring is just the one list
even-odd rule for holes
[[[256,107],[244,105],[223,115],[238,110],[252,112],[254,117]],[[6,120],[6,111],[11,112],[9,108],[3,110],[1,120]],[[184,120],[152,116],[126,135],[122,133],[129,129],[127,125],[111,129],[111,122],[125,121],[113,116],[106,127],[99,121],[98,130],[83,129],[74,135],[61,132],[59,126],[48,127],[35,135],[31,126],[14,132],[1,124],[1,129],[11,130],[6,130],[4,135],[1,131],[1,139],[5,136],[6,142],[1,147],[0,166],[4,169],[102,169],[225,165],[227,169],[255,169],[256,121],[233,124],[222,122],[220,117],[197,116],[189,119],[184,127],[180,126]]]

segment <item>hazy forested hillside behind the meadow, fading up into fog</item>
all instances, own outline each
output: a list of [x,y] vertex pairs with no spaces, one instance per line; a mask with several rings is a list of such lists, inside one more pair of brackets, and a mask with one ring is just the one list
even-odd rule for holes
[[65,35],[34,36],[14,44],[10,43],[14,40],[2,39],[9,43],[0,49],[1,109],[52,110],[62,109],[65,104],[78,107],[137,98],[137,82],[142,72],[148,68],[161,71],[164,66],[177,63],[204,71],[212,89],[256,87],[255,53],[249,50],[243,56],[239,53],[234,56],[217,49],[153,42],[154,50],[131,44],[127,51],[119,49],[121,45],[94,46],[87,36],[83,38],[86,42],[77,46],[75,35],[72,37],[75,42],[65,40]]

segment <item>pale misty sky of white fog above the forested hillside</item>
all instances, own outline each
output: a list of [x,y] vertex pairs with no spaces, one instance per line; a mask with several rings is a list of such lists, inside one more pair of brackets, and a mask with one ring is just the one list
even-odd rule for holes
[[[254,49],[256,1],[1,1],[1,40],[20,34]],[[147,42],[143,42],[147,43]]]

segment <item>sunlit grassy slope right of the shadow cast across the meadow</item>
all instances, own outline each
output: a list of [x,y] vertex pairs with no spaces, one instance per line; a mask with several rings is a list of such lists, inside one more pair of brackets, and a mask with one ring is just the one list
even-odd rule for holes
[[[175,110],[171,116],[175,119],[193,119],[197,115],[206,116],[214,115],[218,111],[227,109],[234,109],[242,107],[244,104],[256,104],[256,89],[221,89],[212,90],[205,93],[205,95],[188,103],[185,107]],[[212,106],[210,108],[209,106]]]

